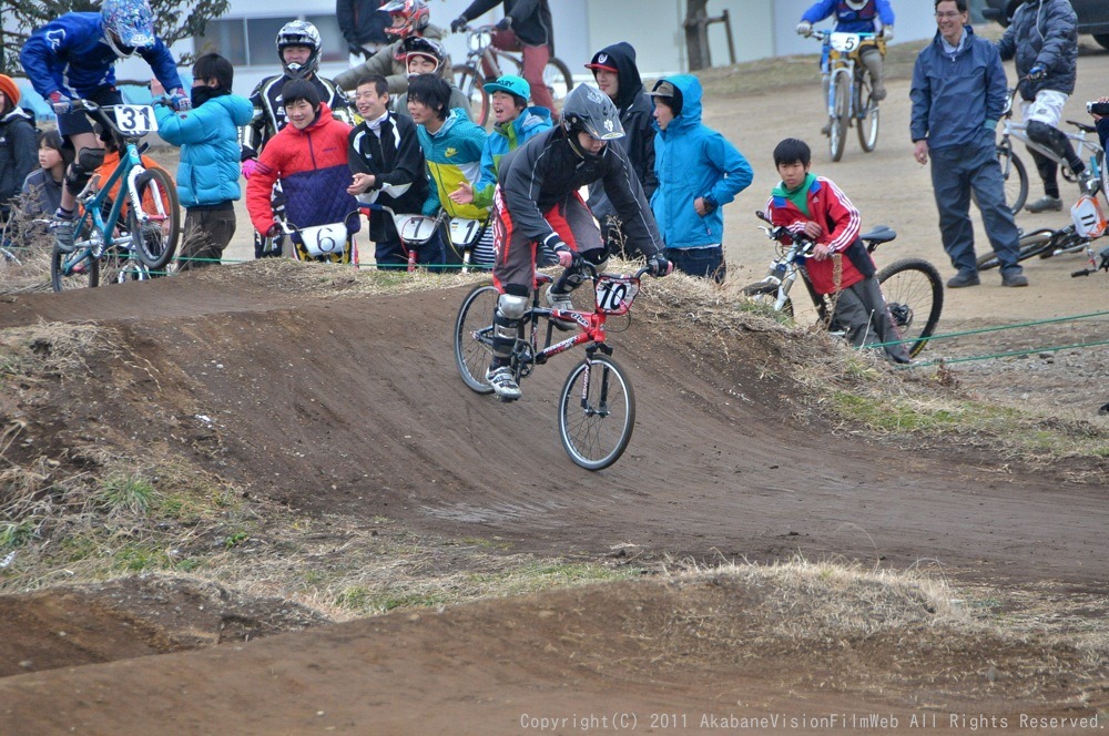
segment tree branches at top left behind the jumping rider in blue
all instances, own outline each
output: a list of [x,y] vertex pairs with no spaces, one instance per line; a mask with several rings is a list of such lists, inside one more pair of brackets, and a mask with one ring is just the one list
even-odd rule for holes
[[[0,73],[22,76],[19,50],[34,29],[68,12],[99,12],[94,0],[3,0],[0,11]],[[154,11],[154,32],[167,45],[174,41],[200,35],[204,24],[227,12],[230,0],[150,0]],[[192,54],[182,54],[179,64],[187,64]]]

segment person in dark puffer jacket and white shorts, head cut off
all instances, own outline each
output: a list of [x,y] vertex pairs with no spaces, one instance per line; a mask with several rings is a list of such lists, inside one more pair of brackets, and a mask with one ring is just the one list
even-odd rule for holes
[[[1003,61],[1016,59],[1017,85],[1022,100],[1021,117],[1028,137],[1067,161],[1087,191],[1086,164],[1059,130],[1062,108],[1075,91],[1078,75],[1078,17],[1068,0],[1024,0],[1017,6],[1009,28],[997,42]],[[1028,212],[1062,209],[1058,165],[1035,149],[1028,149],[1044,180],[1044,196],[1028,204]]]

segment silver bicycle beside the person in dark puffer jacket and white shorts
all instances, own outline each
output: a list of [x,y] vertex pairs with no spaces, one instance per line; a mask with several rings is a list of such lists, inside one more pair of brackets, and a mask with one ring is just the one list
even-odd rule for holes
[[[1022,80],[1021,80],[1022,81]],[[1028,137],[1028,125],[1025,122],[1014,122],[1013,102],[1017,95],[1017,89],[1010,88],[1008,102],[1005,104],[1003,113],[1004,123],[1001,125],[1001,140],[997,144],[997,162],[1001,166],[1001,177],[1005,180],[1005,201],[1009,204],[1013,214],[1020,212],[1028,201],[1028,167],[1020,160],[1016,151],[1013,150],[1013,140],[1016,139],[1029,149],[1044,154],[1049,160],[1059,165],[1062,177],[1071,184],[1082,185],[1078,176],[1070,170],[1067,160],[1055,152],[1055,150],[1038,143]],[[1101,170],[1105,167],[1105,151],[1097,142],[1097,127],[1087,125],[1078,121],[1068,120],[1067,123],[1078,129],[1077,133],[1065,133],[1075,146],[1075,153],[1083,162],[1088,162],[1089,170],[1086,174],[1087,182],[1083,192],[1093,195],[1102,188]],[[1093,134],[1095,139],[1086,136]]]

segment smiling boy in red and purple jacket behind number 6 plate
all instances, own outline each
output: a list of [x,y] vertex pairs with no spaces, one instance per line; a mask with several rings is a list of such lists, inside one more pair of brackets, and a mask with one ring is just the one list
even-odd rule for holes
[[[293,80],[282,91],[288,125],[269,140],[258,157],[258,166],[246,182],[246,208],[254,228],[276,235],[271,202],[274,182],[281,180],[285,194],[285,217],[295,228],[346,223],[347,247],[343,263],[350,259],[350,236],[358,232],[358,203],[347,193],[347,137],[350,126],[335,120],[319,92],[307,80]],[[296,238],[294,238],[295,241]],[[297,243],[298,251],[303,249]],[[305,253],[301,253],[302,258]]]

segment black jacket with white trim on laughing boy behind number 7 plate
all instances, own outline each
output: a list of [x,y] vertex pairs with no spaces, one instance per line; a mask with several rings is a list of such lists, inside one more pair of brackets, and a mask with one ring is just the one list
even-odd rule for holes
[[[416,123],[410,117],[397,117],[393,113],[381,121],[381,136],[369,130],[367,123],[359,123],[350,131],[347,160],[355,174],[374,174],[374,186],[359,198],[391,185],[408,190],[394,195],[380,193],[377,204],[391,207],[397,214],[419,214],[427,200],[427,175],[424,173],[424,151],[416,136]],[[369,237],[374,242],[396,241],[397,228],[388,213],[377,209],[369,215]]]

